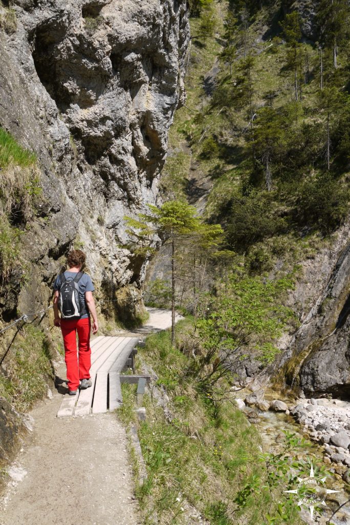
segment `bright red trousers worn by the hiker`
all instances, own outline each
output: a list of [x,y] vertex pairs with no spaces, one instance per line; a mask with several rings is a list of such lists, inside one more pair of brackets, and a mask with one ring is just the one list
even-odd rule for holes
[[[90,379],[91,348],[90,318],[67,320],[61,319],[61,330],[64,343],[64,361],[67,365],[69,390],[79,387],[79,380]],[[79,362],[76,352],[76,332],[78,332]]]

